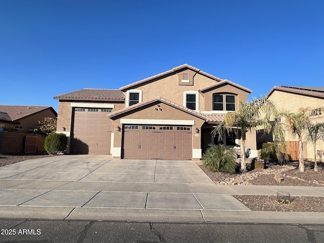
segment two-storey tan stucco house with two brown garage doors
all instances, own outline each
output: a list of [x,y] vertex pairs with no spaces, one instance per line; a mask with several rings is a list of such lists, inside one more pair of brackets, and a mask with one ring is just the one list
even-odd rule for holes
[[[214,126],[251,92],[184,64],[119,90],[83,89],[54,97],[57,132],[70,138],[70,153],[198,160],[217,142]],[[237,135],[227,133],[224,144],[238,148]]]

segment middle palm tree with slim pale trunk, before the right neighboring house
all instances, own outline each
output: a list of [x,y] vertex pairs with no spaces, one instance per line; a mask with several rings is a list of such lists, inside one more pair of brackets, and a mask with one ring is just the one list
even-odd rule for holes
[[286,119],[286,127],[289,129],[290,133],[294,136],[298,137],[298,151],[299,151],[299,171],[304,172],[304,153],[303,153],[303,136],[307,134],[307,129],[311,126],[311,117],[314,115],[314,110],[316,112],[321,112],[324,110],[319,107],[316,109],[307,108],[299,108],[298,112],[290,113],[290,112],[281,112],[282,115]]

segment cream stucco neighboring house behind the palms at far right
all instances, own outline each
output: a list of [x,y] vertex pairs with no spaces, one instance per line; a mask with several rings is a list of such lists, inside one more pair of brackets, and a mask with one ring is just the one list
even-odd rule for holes
[[[268,94],[270,100],[274,101],[279,110],[287,110],[289,112],[298,112],[299,108],[317,108],[324,107],[324,87],[308,87],[308,86],[275,86]],[[323,122],[322,114],[314,111],[314,122]],[[291,150],[291,159],[298,159],[298,138],[291,136],[286,132],[285,139],[289,144],[288,149]],[[261,138],[262,140],[262,138]],[[259,138],[260,141],[260,138]],[[306,143],[304,139],[304,158],[312,160],[314,158],[313,146]],[[316,143],[317,158],[324,161],[324,142]]]

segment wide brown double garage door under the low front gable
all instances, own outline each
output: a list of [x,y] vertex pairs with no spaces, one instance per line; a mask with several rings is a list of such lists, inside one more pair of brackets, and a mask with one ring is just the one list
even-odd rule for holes
[[191,159],[190,126],[124,126],[124,158]]

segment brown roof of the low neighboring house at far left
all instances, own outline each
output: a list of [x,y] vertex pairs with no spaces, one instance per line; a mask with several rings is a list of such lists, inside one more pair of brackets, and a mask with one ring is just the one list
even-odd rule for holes
[[0,105],[0,111],[7,113],[12,121],[17,121],[46,109],[51,109],[57,115],[57,112],[51,106]]

